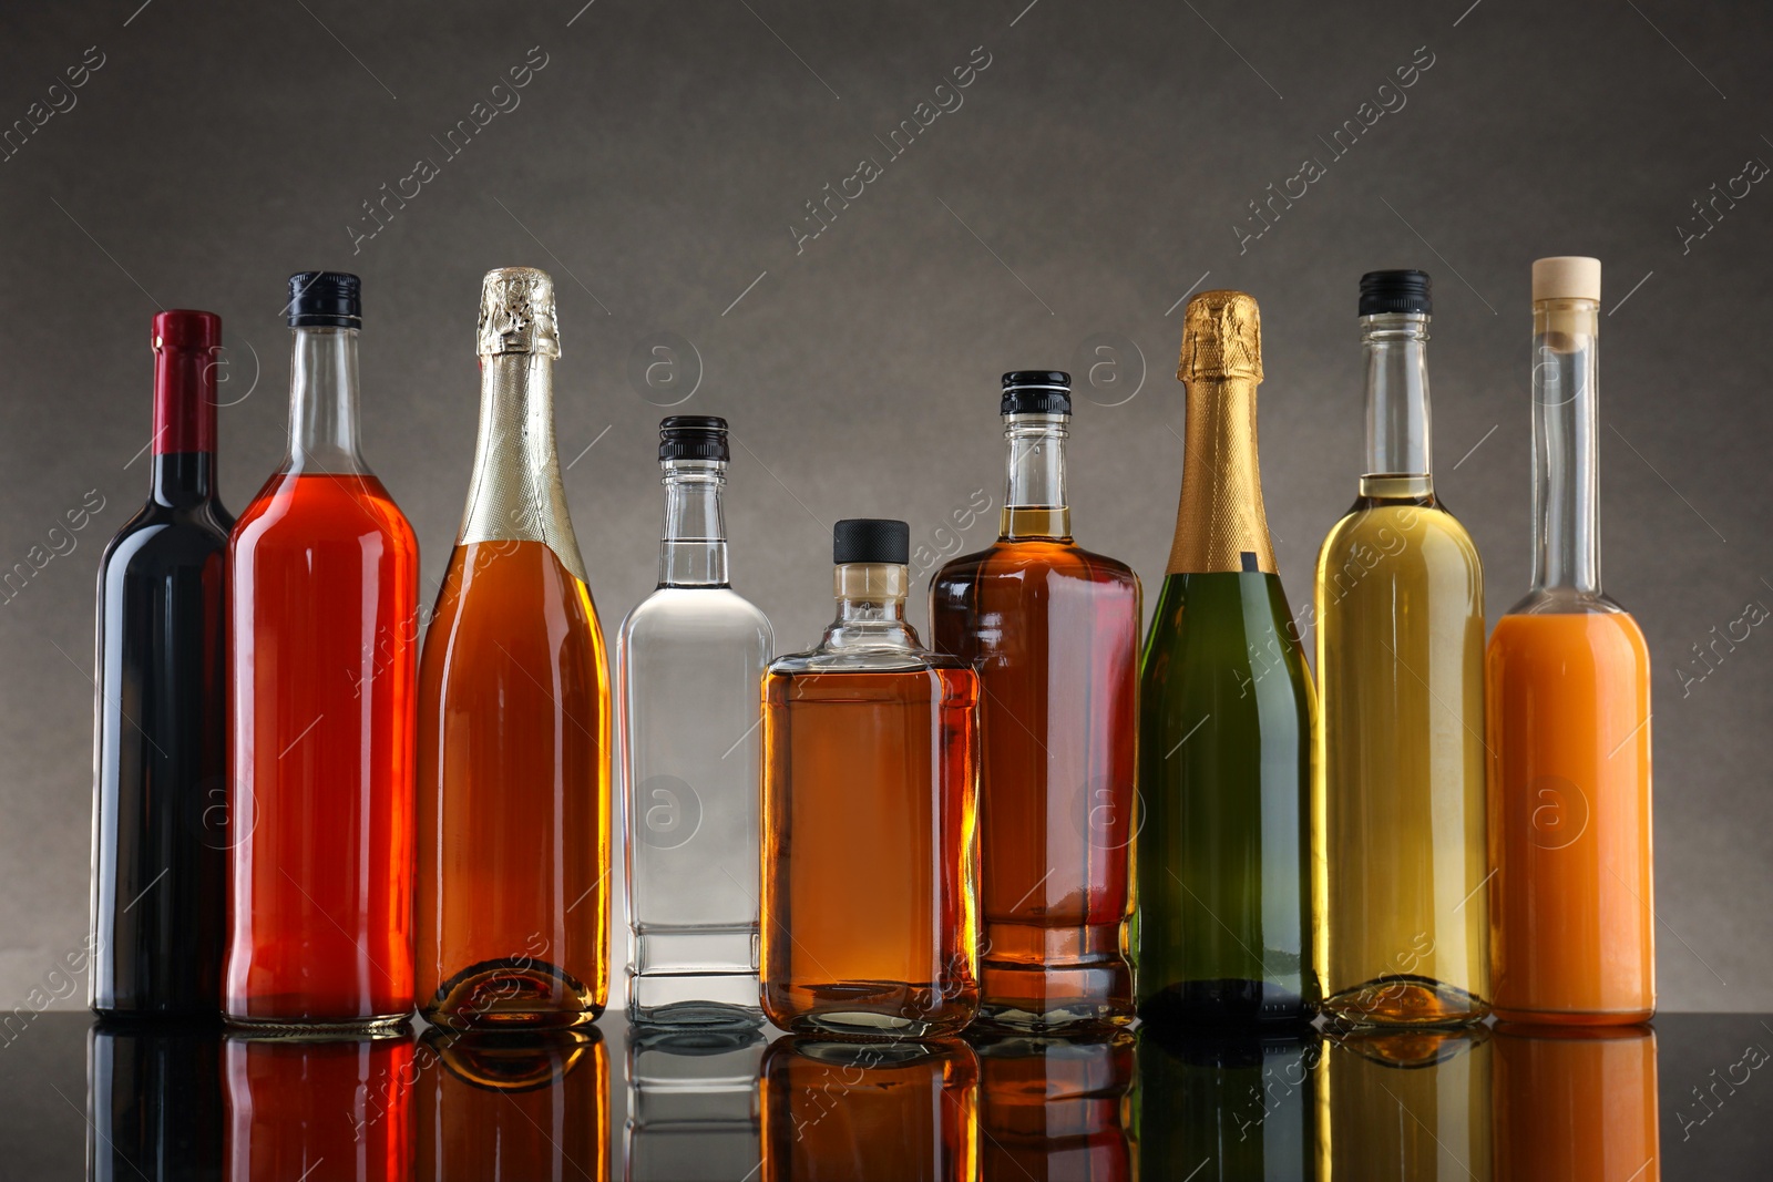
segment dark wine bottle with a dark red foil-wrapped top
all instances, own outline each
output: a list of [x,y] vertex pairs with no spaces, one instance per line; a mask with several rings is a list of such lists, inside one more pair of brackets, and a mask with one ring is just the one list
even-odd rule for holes
[[[227,946],[227,533],[215,312],[154,315],[147,503],[99,560],[92,978],[103,1015],[215,1019]],[[215,822],[215,824],[209,824]]]

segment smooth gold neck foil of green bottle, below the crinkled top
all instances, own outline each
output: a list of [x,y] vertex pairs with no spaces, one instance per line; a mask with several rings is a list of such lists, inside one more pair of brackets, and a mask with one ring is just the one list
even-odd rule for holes
[[1188,379],[1183,498],[1165,574],[1275,572],[1255,461],[1255,386],[1245,376]]

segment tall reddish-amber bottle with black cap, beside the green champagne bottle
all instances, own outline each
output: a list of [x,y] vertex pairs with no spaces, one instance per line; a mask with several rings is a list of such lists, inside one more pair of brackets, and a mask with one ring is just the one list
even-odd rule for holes
[[936,652],[979,670],[979,1012],[1129,1023],[1138,576],[1071,540],[1071,377],[1004,374],[1002,415],[1000,537],[929,585]]

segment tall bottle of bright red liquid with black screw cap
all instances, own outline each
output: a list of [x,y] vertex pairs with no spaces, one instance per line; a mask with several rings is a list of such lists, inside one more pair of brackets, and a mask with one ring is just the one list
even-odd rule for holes
[[289,454],[229,540],[222,1008],[374,1026],[413,1008],[418,542],[358,452],[355,275],[289,280]]

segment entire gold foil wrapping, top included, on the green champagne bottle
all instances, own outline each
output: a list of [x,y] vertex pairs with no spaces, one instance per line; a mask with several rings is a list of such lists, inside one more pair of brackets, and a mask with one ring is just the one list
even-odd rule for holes
[[1175,376],[1188,388],[1188,422],[1165,574],[1273,574],[1255,448],[1255,386],[1262,381],[1255,299],[1241,291],[1190,299]]

